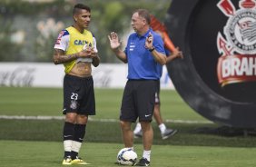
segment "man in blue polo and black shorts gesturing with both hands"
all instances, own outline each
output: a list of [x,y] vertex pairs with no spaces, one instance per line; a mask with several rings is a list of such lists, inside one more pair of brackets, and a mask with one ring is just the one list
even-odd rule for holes
[[128,64],[128,81],[123,92],[120,124],[124,146],[133,149],[132,123],[137,118],[143,129],[143,158],[137,166],[149,166],[153,144],[154,95],[161,68],[166,64],[166,55],[160,34],[150,27],[150,14],[145,9],[133,13],[131,25],[135,33],[130,34],[125,50],[116,33],[108,35],[113,53]]

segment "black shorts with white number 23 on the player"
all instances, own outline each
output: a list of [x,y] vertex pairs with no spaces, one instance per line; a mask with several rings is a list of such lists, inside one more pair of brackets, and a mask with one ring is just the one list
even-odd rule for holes
[[63,113],[95,114],[94,79],[65,74]]

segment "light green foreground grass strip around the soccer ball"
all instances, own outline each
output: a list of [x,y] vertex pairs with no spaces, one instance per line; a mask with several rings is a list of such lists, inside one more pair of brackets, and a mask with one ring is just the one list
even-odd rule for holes
[[[87,142],[81,157],[92,167],[114,167],[116,154],[122,144]],[[63,145],[61,142],[0,141],[1,167],[58,167],[61,165]],[[135,145],[138,156],[142,145]],[[153,167],[241,167],[255,166],[256,148],[225,148],[196,146],[153,146]],[[76,165],[77,166],[77,165]]]

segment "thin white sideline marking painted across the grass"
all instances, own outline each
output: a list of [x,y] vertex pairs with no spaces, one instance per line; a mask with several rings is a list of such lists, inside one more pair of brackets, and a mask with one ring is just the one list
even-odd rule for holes
[[[25,115],[0,115],[0,119],[4,120],[64,120],[64,116],[25,116]],[[116,123],[119,122],[117,119],[94,119],[89,117],[89,121],[93,122],[105,122],[105,123]],[[192,121],[192,120],[166,120],[166,123],[202,123],[208,124],[211,121]]]

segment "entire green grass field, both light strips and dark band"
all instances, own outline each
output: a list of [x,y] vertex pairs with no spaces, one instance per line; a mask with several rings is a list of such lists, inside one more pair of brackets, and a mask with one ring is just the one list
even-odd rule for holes
[[[88,123],[80,155],[94,167],[113,164],[116,153],[123,148],[118,123],[122,89],[96,89],[97,115]],[[62,116],[62,89],[0,87],[0,115]],[[233,133],[229,128],[208,123],[182,101],[178,93],[162,90],[162,116],[165,120],[197,121],[168,122],[179,130],[171,139],[162,141],[153,122],[154,141],[152,166],[256,166],[256,138]],[[101,121],[113,119],[113,122]],[[62,166],[63,120],[0,119],[0,166],[43,167]],[[224,132],[224,133],[223,133]],[[139,157],[141,139],[134,146]]]

